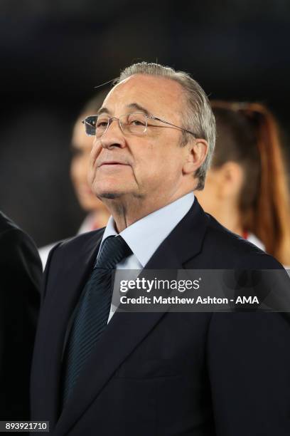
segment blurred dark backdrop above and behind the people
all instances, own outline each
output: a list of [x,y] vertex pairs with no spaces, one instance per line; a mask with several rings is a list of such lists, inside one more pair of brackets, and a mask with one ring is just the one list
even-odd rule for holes
[[71,128],[95,85],[134,61],[189,71],[210,98],[266,103],[289,148],[288,0],[0,5],[0,209],[39,246],[77,231]]

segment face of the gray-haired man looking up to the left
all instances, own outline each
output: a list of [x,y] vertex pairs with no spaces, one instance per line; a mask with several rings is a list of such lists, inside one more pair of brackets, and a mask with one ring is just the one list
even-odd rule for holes
[[[115,86],[104,100],[109,117],[140,112],[182,125],[181,85],[166,78],[134,75]],[[92,148],[89,182],[100,198],[175,199],[183,184],[186,148],[181,130],[151,121],[143,135],[124,134],[113,120]]]

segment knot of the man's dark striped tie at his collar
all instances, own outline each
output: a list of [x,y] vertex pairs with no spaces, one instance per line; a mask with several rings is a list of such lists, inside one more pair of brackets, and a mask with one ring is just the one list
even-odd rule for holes
[[97,257],[95,268],[115,269],[122,259],[131,254],[131,249],[120,236],[107,237]]

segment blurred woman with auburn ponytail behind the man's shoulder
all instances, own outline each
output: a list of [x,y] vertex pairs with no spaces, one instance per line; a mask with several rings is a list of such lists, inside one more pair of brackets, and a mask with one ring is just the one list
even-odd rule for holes
[[259,103],[211,102],[213,163],[198,200],[227,229],[290,265],[290,209],[279,130]]

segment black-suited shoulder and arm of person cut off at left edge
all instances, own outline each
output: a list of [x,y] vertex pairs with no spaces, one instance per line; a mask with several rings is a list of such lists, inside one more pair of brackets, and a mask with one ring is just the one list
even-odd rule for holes
[[1,212],[0,247],[0,420],[29,420],[41,259],[31,238]]

